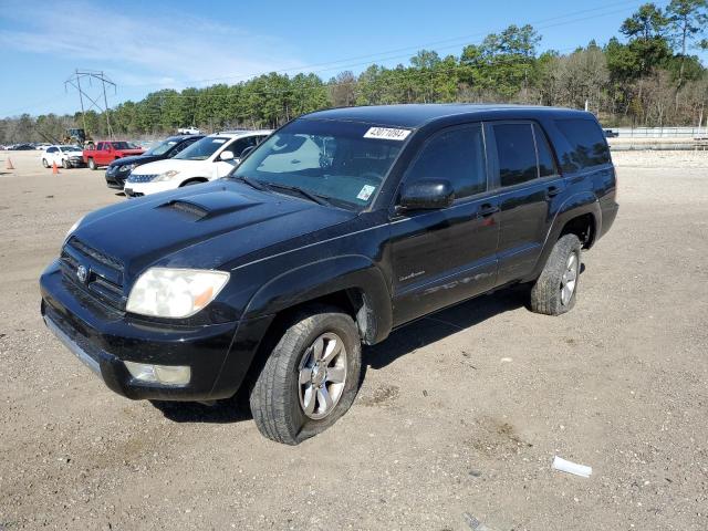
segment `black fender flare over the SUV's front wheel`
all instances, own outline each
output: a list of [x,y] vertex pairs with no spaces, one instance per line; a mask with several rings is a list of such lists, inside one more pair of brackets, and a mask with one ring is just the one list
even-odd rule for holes
[[251,296],[243,319],[272,315],[345,290],[362,293],[362,310],[355,316],[362,340],[366,344],[385,340],[393,326],[391,292],[378,267],[361,254],[326,258],[274,277]]

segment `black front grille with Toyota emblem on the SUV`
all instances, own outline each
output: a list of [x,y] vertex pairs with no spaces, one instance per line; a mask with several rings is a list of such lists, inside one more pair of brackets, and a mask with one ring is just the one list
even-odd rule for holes
[[[95,300],[117,310],[125,310],[126,298],[123,294],[124,266],[75,237],[62,248],[62,274],[74,285],[91,294]],[[79,279],[79,268],[87,270],[86,279]]]

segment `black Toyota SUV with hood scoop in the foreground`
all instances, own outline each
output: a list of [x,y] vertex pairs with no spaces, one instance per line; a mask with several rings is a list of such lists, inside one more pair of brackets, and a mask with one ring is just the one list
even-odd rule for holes
[[261,433],[298,444],[352,405],[362,344],[510,284],[535,312],[573,308],[615,189],[589,113],[317,112],[229,177],[80,220],[42,274],[42,314],[116,393],[210,402],[243,387]]

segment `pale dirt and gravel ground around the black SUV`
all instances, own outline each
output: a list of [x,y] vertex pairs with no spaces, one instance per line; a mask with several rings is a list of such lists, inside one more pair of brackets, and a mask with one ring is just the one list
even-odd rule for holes
[[233,403],[114,395],[45,330],[40,272],[76,218],[125,199],[103,171],[11,157],[0,530],[708,529],[708,153],[617,154],[620,216],[570,314],[504,291],[409,325],[365,351],[352,409],[299,447]]

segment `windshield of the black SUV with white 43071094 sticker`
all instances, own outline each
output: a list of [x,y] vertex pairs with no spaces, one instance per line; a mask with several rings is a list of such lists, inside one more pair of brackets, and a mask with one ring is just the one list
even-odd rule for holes
[[294,186],[358,210],[378,191],[409,133],[352,122],[299,119],[263,142],[231,177]]

